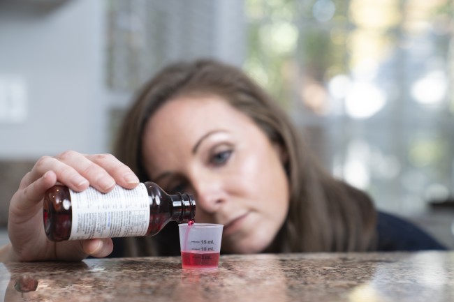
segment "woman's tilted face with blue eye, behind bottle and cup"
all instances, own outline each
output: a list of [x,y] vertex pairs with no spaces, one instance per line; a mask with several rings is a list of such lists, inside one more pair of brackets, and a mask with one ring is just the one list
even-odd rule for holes
[[145,127],[150,178],[196,197],[196,222],[224,225],[226,252],[261,252],[288,211],[281,150],[249,116],[219,96],[179,97]]

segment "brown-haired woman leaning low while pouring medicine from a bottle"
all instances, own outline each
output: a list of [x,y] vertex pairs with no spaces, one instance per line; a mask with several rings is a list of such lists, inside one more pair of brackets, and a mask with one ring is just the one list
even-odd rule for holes
[[[197,222],[224,224],[222,252],[443,248],[413,225],[377,213],[362,191],[334,179],[288,117],[241,70],[216,61],[168,66],[145,85],[110,155],[43,157],[11,200],[8,260],[105,257],[110,239],[51,243],[41,199],[56,181],[108,192],[154,181],[196,196]],[[31,234],[30,230],[33,230]],[[399,232],[395,232],[395,231]],[[177,255],[176,226],[154,237],[115,239],[115,255]]]

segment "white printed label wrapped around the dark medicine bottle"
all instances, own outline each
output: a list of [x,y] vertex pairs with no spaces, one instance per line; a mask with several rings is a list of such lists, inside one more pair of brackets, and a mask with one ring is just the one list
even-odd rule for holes
[[69,240],[147,234],[149,201],[144,183],[132,190],[115,186],[108,193],[92,187],[82,192],[69,192],[73,208]]

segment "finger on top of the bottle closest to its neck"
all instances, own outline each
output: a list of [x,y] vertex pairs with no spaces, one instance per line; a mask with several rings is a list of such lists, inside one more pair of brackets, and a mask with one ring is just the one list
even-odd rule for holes
[[87,158],[103,167],[120,186],[135,188],[138,185],[139,179],[136,174],[112,154],[89,155]]

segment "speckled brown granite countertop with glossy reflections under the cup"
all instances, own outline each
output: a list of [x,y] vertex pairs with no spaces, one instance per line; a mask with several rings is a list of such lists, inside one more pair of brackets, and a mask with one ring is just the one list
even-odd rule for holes
[[180,257],[0,263],[2,298],[454,301],[454,252],[222,255],[219,268],[212,271],[184,270]]

